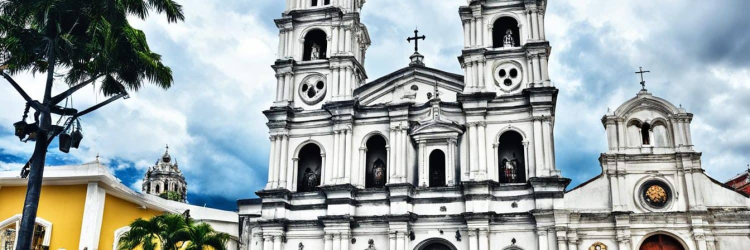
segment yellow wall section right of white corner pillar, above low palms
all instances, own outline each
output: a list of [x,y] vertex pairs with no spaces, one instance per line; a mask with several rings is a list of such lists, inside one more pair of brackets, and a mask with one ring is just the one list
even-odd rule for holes
[[140,209],[140,206],[135,203],[107,194],[104,199],[101,233],[99,233],[99,249],[112,249],[115,230],[120,227],[127,226],[136,218],[148,219],[161,213],[152,209]]

